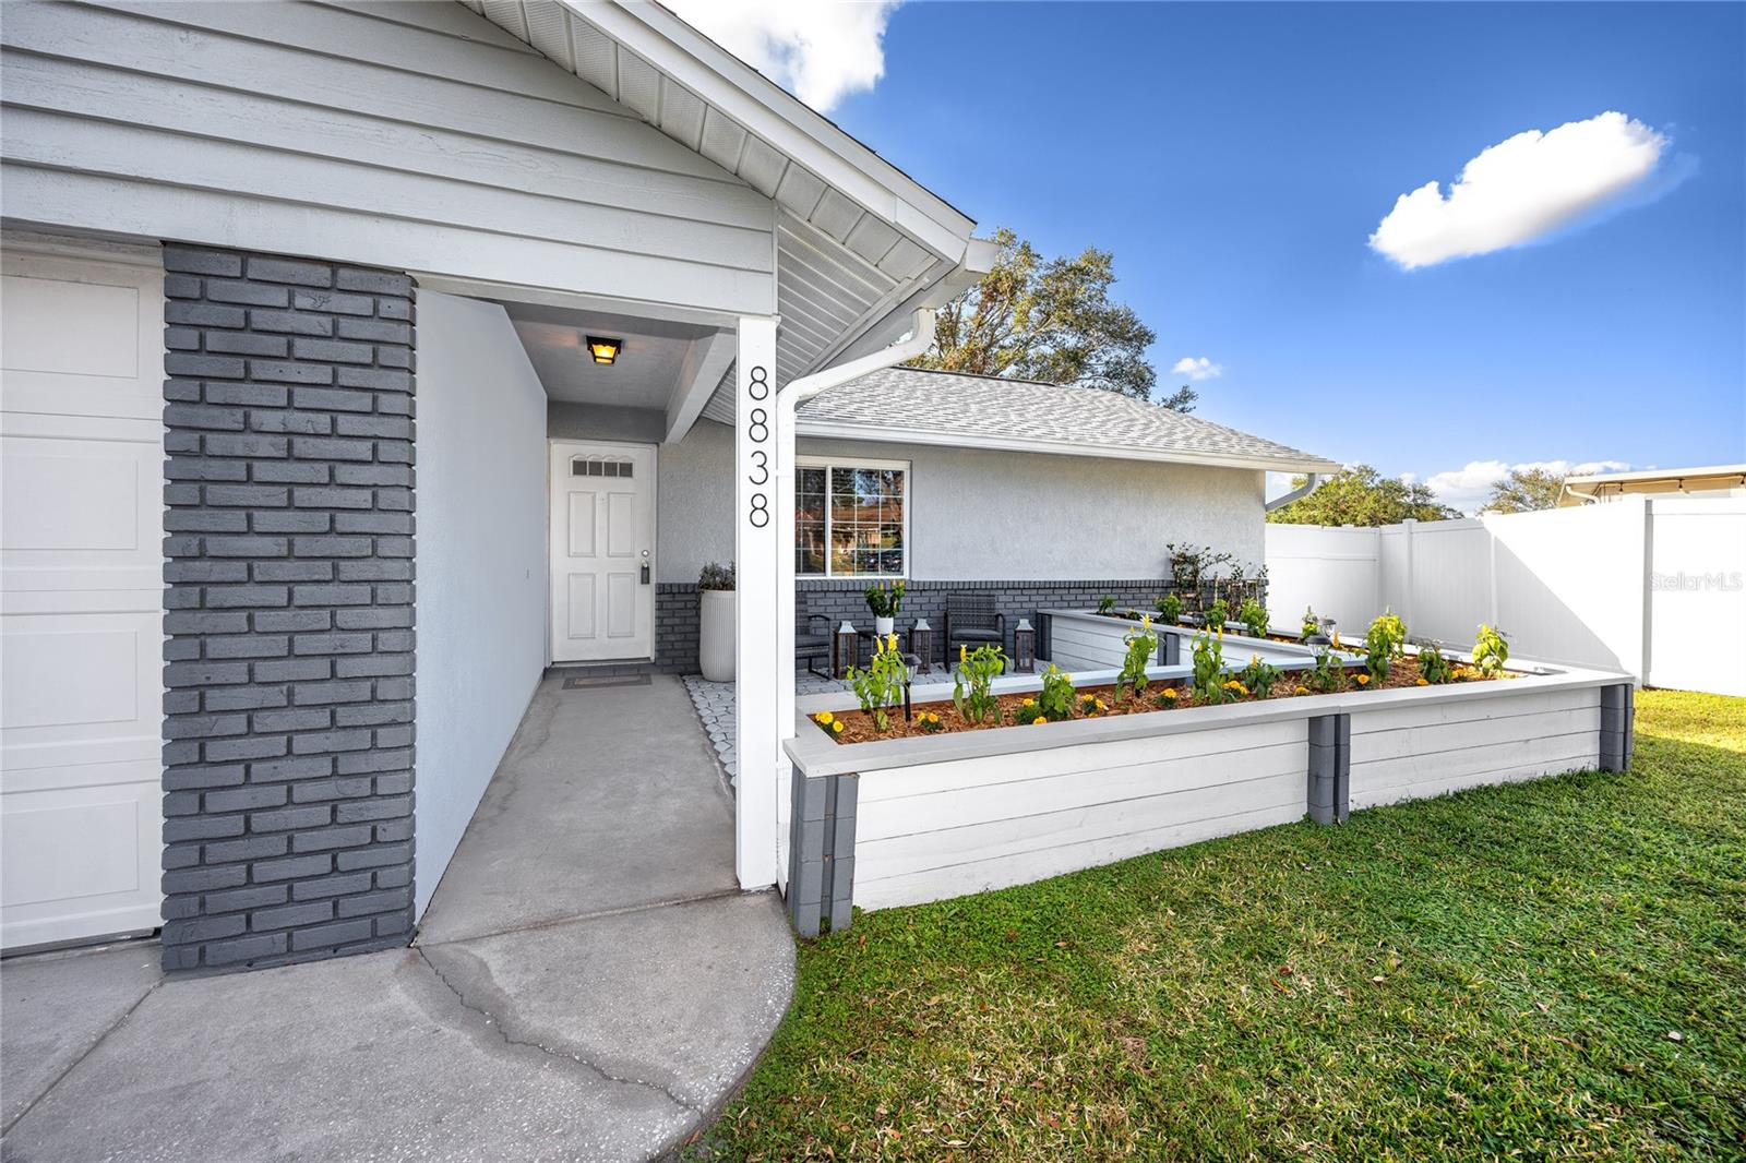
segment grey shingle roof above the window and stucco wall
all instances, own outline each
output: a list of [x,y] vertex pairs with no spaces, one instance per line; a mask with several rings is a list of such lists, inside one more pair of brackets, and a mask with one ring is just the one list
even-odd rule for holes
[[1339,465],[1098,388],[894,367],[800,409],[803,437],[1332,473]]

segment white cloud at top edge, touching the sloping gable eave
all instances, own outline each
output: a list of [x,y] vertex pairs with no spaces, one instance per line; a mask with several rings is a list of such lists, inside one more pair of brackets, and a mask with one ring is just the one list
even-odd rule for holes
[[819,110],[885,75],[899,0],[667,0],[700,33]]

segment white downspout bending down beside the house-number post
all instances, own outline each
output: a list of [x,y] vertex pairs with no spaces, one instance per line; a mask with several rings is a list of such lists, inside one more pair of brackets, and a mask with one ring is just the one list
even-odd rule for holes
[[[782,740],[794,737],[794,412],[801,403],[826,388],[847,384],[870,372],[896,367],[925,353],[934,344],[934,309],[924,307],[910,323],[910,337],[890,348],[864,354],[838,367],[801,375],[777,393],[775,398],[775,732],[777,732],[777,805],[779,815],[787,807],[787,753]],[[908,554],[908,547],[904,547]],[[787,833],[777,828],[777,845],[787,843]],[[786,861],[777,861],[780,875],[787,877]]]

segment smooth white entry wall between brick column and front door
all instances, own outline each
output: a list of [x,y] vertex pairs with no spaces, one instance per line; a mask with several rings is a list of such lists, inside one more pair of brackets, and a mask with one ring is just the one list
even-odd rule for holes
[[419,295],[419,913],[545,667],[545,403],[503,307]]

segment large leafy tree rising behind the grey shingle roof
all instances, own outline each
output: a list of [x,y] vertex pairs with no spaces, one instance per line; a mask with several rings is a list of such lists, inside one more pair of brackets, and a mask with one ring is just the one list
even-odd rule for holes
[[[1110,299],[1114,257],[1088,246],[1077,257],[1044,258],[1002,227],[1000,257],[974,286],[939,309],[934,346],[910,361],[943,372],[1041,379],[1151,400],[1158,372],[1145,349],[1158,335],[1133,307]],[[1163,400],[1187,412],[1196,393]]]

